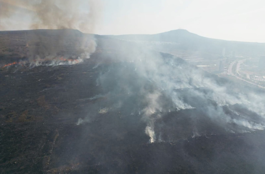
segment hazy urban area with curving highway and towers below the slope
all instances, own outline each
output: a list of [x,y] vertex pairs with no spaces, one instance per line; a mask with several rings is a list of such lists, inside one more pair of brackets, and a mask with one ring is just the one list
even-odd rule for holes
[[265,88],[265,55],[241,55],[235,51],[226,53],[223,48],[217,59],[205,59],[200,56],[180,55],[186,61],[202,69],[232,80],[241,80],[244,84]]

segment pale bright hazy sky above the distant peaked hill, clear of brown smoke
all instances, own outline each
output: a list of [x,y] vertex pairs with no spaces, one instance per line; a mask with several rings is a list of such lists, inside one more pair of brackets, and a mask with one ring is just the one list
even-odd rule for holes
[[[155,34],[181,28],[210,38],[265,43],[264,0],[101,0],[101,4],[96,34]],[[27,29],[23,18],[7,30]]]

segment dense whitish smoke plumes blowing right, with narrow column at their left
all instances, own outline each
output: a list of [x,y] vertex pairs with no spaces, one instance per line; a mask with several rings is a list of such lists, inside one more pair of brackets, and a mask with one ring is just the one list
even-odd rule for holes
[[[146,133],[150,136],[150,142],[155,140],[154,122],[163,115],[161,111],[165,108],[165,103],[162,103],[159,98],[161,93],[171,100],[172,107],[168,107],[168,109],[173,111],[197,108],[199,104],[193,103],[192,98],[196,98],[198,102],[205,101],[201,107],[205,108],[204,112],[214,122],[224,128],[228,128],[231,124],[241,127],[241,129],[232,132],[265,128],[264,94],[243,90],[233,92],[229,86],[219,85],[214,78],[207,77],[202,70],[196,67],[185,64],[177,65],[174,60],[166,62],[159,56],[146,57],[146,63],[142,63],[137,65],[140,67],[137,68],[140,75],[146,76],[157,86],[157,89],[151,94],[146,91],[148,105],[143,109],[143,117],[147,120]],[[206,88],[210,92],[202,92],[198,90],[200,88]],[[184,95],[181,89],[188,89],[189,93]],[[244,113],[235,113],[231,107],[236,104],[254,112],[259,119],[253,120]],[[234,112],[237,117],[225,113],[224,106],[228,107],[231,113]],[[200,108],[198,107],[198,109]],[[232,129],[229,127],[229,130]]]

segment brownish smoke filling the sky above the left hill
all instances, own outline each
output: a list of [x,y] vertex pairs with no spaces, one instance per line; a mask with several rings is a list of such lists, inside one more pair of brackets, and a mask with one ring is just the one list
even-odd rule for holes
[[101,12],[100,2],[95,0],[1,0],[0,5],[0,19],[27,10],[31,15],[31,29],[71,28],[85,33],[94,31]]

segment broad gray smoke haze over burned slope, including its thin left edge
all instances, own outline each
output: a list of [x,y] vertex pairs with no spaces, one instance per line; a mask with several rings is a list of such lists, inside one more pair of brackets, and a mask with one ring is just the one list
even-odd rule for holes
[[[185,110],[193,110],[192,119],[208,117],[207,121],[229,133],[265,128],[264,92],[245,89],[229,80],[222,82],[219,77],[177,57],[139,47],[120,49],[126,54],[120,56],[120,60],[114,57],[119,63],[105,70],[98,81],[103,88],[113,86],[106,90],[109,98],[124,95],[105,107],[126,108],[131,117],[140,115],[146,123],[144,132],[150,137],[150,143],[168,140],[163,140],[163,132],[160,132],[163,129],[156,127],[157,121],[170,112],[178,117],[178,113]],[[176,125],[185,128],[185,125]],[[167,127],[163,123],[159,126]],[[201,127],[204,126],[195,125],[194,136],[202,135],[197,131]]]

